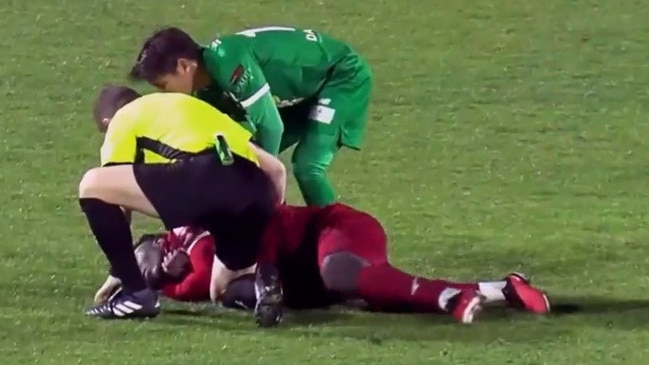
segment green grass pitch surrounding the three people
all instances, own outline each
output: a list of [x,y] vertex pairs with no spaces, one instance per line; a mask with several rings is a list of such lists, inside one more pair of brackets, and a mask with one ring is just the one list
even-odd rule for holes
[[[639,0],[84,0],[0,4],[0,359],[5,364],[643,364],[649,358],[649,7]],[[569,315],[251,317],[82,309],[105,263],[76,202],[98,162],[98,86],[175,24],[201,40],[327,31],[373,65],[366,147],[331,173],[395,263],[469,280],[522,270]],[[294,183],[291,196],[297,201]],[[137,221],[136,231],[157,229]]]

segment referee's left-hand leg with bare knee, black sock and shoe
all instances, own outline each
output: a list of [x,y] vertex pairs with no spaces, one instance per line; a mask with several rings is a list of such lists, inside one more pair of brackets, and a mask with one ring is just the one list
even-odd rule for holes
[[91,169],[79,183],[79,205],[110,262],[111,275],[119,278],[123,288],[107,303],[87,310],[86,314],[91,316],[108,319],[154,317],[160,312],[157,294],[146,287],[137,265],[131,228],[122,210],[124,206],[155,213],[137,187],[132,171],[129,165]]

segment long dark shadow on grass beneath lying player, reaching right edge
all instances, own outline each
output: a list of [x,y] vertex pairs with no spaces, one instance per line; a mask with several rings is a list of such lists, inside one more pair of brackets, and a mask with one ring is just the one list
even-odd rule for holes
[[[487,308],[473,325],[445,315],[382,314],[334,308],[288,311],[273,335],[337,338],[381,345],[391,341],[461,343],[538,343],[571,336],[584,327],[633,330],[649,323],[649,301],[601,297],[560,297],[550,316],[533,316],[505,308]],[[232,333],[259,331],[252,313],[213,307],[165,310],[164,322],[207,326]]]

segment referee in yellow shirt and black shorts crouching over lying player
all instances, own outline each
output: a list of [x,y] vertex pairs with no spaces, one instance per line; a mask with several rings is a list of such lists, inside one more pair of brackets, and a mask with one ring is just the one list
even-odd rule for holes
[[123,290],[86,311],[101,318],[155,317],[133,255],[130,211],[159,217],[167,230],[198,226],[217,237],[230,270],[255,263],[261,235],[284,201],[286,170],[251,134],[194,97],[101,90],[94,119],[105,132],[101,166],[79,183],[79,204]]

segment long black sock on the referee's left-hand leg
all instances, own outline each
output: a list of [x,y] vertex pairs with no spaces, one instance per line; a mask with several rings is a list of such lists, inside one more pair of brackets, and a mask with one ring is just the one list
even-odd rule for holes
[[122,281],[124,290],[136,292],[146,289],[146,283],[133,254],[131,227],[122,209],[94,198],[79,199],[88,225],[104,251],[111,266],[111,274]]

